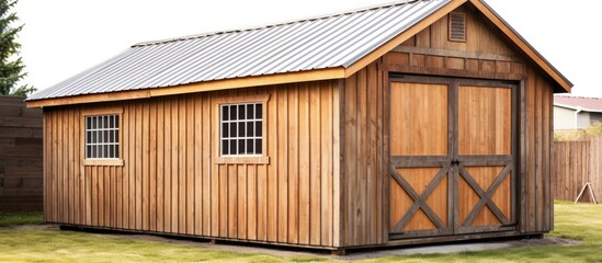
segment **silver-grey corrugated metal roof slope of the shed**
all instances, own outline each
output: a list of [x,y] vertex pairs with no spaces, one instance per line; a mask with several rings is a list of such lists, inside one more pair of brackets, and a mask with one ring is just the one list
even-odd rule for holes
[[27,100],[347,68],[448,2],[408,1],[242,31],[143,43]]

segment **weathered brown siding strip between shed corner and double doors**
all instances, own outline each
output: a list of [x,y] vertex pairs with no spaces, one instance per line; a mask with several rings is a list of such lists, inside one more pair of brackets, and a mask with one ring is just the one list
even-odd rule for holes
[[[388,145],[384,119],[386,75],[372,64],[345,80],[341,94],[341,242],[367,245],[388,240],[385,187]],[[388,111],[388,108],[387,108]]]

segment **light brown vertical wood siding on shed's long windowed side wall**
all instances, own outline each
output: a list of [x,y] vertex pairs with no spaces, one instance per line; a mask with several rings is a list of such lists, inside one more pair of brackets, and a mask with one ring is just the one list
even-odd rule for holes
[[[333,247],[338,82],[45,111],[50,222]],[[270,94],[269,164],[215,163],[224,98]],[[81,111],[123,107],[123,167],[83,165]]]

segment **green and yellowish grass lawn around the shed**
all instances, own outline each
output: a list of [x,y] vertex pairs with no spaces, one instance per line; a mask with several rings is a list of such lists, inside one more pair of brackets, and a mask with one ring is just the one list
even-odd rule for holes
[[[602,262],[602,206],[556,203],[553,237],[583,240],[571,247],[529,247],[480,252],[387,256],[366,262]],[[0,214],[0,226],[19,225]],[[26,224],[41,221],[39,214],[20,215]],[[9,221],[7,224],[7,221]],[[0,262],[309,262],[334,261],[325,255],[277,256],[226,252],[190,243],[140,240],[55,229],[0,230]],[[342,258],[344,259],[344,258]]]

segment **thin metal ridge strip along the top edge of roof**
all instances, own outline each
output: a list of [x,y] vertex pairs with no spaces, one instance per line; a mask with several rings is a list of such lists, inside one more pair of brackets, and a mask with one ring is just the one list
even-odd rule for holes
[[208,32],[208,33],[193,34],[193,35],[188,35],[188,36],[178,36],[178,37],[166,38],[166,39],[140,42],[140,43],[136,43],[136,44],[132,45],[130,47],[162,45],[162,44],[172,43],[172,42],[189,41],[189,39],[202,38],[202,37],[207,37],[207,36],[213,36],[213,35],[222,35],[222,34],[240,33],[240,32],[247,32],[247,31],[255,31],[255,30],[262,30],[262,28],[269,28],[269,27],[275,27],[275,26],[283,26],[283,25],[288,25],[288,24],[294,24],[294,23],[300,23],[300,22],[306,22],[306,21],[323,20],[323,19],[337,18],[337,16],[347,15],[347,14],[367,12],[367,11],[371,11],[371,10],[378,10],[378,9],[384,9],[384,8],[404,5],[404,4],[408,4],[408,3],[412,3],[412,2],[419,2],[419,1],[428,2],[428,1],[432,1],[432,0],[396,0],[396,1],[393,1],[393,2],[388,2],[388,3],[380,3],[380,4],[365,7],[365,8],[352,9],[352,10],[348,10],[348,11],[343,11],[343,12],[336,12],[336,13],[331,13],[331,14],[309,16],[309,18],[305,18],[305,19],[297,19],[297,20],[279,22],[279,23],[273,23],[273,24],[257,25],[257,26],[250,26],[250,27],[238,28],[238,30],[214,31],[214,32]]

